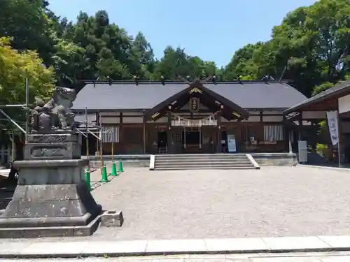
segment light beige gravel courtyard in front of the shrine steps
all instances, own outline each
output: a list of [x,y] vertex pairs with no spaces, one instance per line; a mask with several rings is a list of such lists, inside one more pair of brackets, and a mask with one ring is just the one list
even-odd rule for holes
[[89,239],[350,235],[348,171],[125,170],[92,191],[105,210],[123,210],[125,224]]

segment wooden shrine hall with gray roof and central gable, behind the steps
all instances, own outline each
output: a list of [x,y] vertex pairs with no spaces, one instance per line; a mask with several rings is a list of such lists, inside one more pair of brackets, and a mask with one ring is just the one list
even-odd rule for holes
[[288,152],[283,110],[307,99],[288,82],[87,82],[77,120],[102,126],[103,153]]

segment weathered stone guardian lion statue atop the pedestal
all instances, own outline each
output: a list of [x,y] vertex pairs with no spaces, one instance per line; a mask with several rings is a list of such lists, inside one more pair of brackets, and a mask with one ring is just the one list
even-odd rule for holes
[[31,133],[73,131],[75,122],[71,106],[74,99],[76,92],[66,87],[55,87],[48,103],[36,98],[35,107],[31,110]]

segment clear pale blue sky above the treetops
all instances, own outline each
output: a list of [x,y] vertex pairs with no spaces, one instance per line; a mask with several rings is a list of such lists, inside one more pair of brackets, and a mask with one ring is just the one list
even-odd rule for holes
[[76,20],[80,10],[94,15],[106,10],[110,22],[128,34],[141,31],[155,56],[167,45],[218,66],[228,64],[236,50],[248,43],[267,41],[272,27],[299,6],[314,0],[50,0],[50,9]]

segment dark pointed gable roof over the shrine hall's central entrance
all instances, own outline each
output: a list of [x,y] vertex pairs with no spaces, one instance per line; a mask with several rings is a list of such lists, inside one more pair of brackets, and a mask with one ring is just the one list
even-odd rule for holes
[[[204,104],[206,101],[209,102],[210,108],[216,108],[222,103],[223,108],[221,111],[221,114],[225,116],[226,119],[247,119],[249,117],[248,111],[241,108],[236,103],[233,103],[229,99],[226,99],[225,97],[221,96],[220,94],[212,91],[211,89],[208,89],[207,87],[204,87],[204,85],[200,81],[196,81],[188,85],[187,88],[181,90],[180,92],[174,94],[173,96],[170,96],[168,99],[165,99],[164,101],[158,103],[158,105],[155,105],[153,108],[146,111],[145,115],[146,117],[151,117],[151,115],[157,113],[157,117],[159,117],[160,111],[167,110],[167,107],[169,105],[176,106],[183,106],[185,103],[190,99],[190,97],[201,97],[203,98],[201,102]],[[219,105],[218,105],[219,103]],[[228,110],[228,108],[230,108]],[[153,118],[153,117],[151,117]]]

